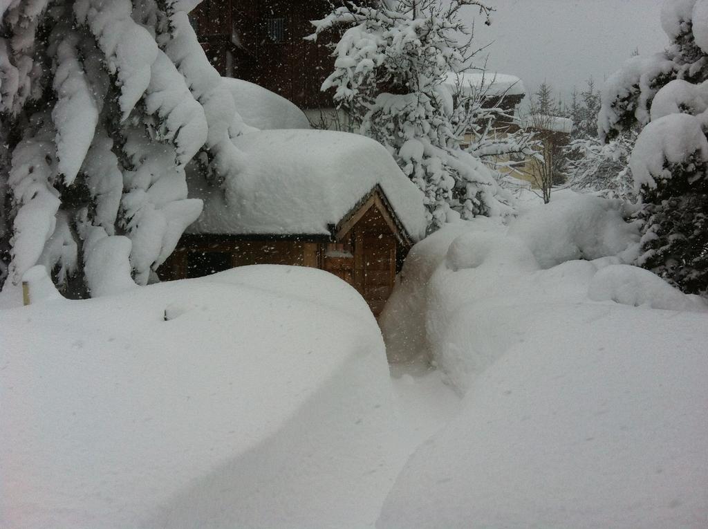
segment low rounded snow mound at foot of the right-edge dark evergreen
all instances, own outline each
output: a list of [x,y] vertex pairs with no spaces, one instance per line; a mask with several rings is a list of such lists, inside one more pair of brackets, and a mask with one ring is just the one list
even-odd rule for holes
[[686,295],[658,275],[629,265],[611,265],[598,271],[590,283],[588,297],[634,307],[708,311],[702,297]]

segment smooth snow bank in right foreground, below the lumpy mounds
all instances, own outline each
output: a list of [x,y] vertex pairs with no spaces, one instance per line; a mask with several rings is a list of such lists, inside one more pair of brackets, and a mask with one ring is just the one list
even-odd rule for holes
[[704,527],[706,316],[539,304],[459,323],[504,317],[511,346],[411,457],[377,527]]

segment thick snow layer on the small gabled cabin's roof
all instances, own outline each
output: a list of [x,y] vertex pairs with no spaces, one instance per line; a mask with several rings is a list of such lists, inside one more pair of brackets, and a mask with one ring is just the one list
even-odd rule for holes
[[262,130],[234,140],[244,166],[222,189],[191,178],[204,211],[188,233],[331,234],[379,186],[409,237],[426,232],[423,194],[370,138],[329,130]]

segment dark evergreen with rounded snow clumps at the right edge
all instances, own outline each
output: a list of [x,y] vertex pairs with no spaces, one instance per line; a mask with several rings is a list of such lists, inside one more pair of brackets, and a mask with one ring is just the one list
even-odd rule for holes
[[630,166],[644,220],[639,264],[708,295],[708,0],[670,0],[664,52],[632,57],[607,80],[605,140],[642,127]]

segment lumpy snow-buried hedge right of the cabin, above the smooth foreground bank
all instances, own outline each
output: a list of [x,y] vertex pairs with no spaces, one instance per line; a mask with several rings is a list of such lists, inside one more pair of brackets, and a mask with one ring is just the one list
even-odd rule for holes
[[[532,305],[540,297],[704,309],[699,297],[668,285],[662,289],[639,268],[629,273],[611,266],[632,263],[639,241],[639,225],[624,222],[621,201],[569,190],[523,212],[509,227],[475,220],[440,229],[413,246],[380,317],[389,356],[430,355],[465,392],[513,339],[498,330],[511,320],[500,311],[487,314],[491,296],[495,305],[509,307]],[[603,272],[605,267],[610,271]]]

